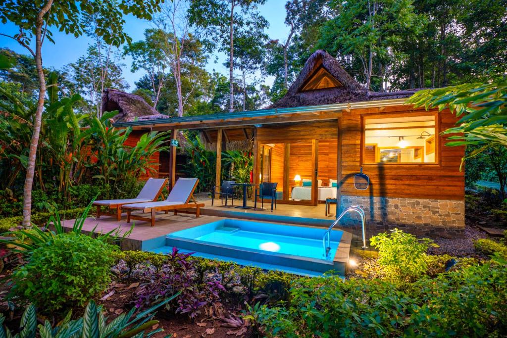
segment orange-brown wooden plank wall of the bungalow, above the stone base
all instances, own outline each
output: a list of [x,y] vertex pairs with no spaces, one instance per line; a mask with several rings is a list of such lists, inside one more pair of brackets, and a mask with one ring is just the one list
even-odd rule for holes
[[[337,149],[335,144],[337,144],[337,135],[340,133],[342,137],[340,161],[342,195],[463,200],[464,172],[459,171],[459,165],[464,155],[464,147],[445,146],[448,135],[438,137],[436,164],[364,163],[365,161],[361,159],[361,147],[364,143],[361,134],[363,116],[392,117],[407,114],[437,114],[437,111],[426,112],[424,109],[411,109],[407,106],[352,109],[342,112],[339,131],[337,130],[338,121],[263,126],[257,128],[256,141],[258,144],[291,143],[289,184],[294,182],[296,173],[302,178],[310,178],[307,176],[311,175],[309,168],[311,168],[310,141],[312,139],[319,140],[318,178],[322,180],[331,178],[337,170],[338,159],[333,148]],[[437,117],[437,132],[439,133],[454,126],[457,121],[448,110],[442,111]],[[295,158],[299,162],[298,172],[293,164]],[[353,176],[359,172],[361,166],[371,180],[370,187],[366,191],[356,190],[353,186]],[[272,177],[274,172],[272,169]],[[281,182],[282,180],[279,180],[279,184]]]

